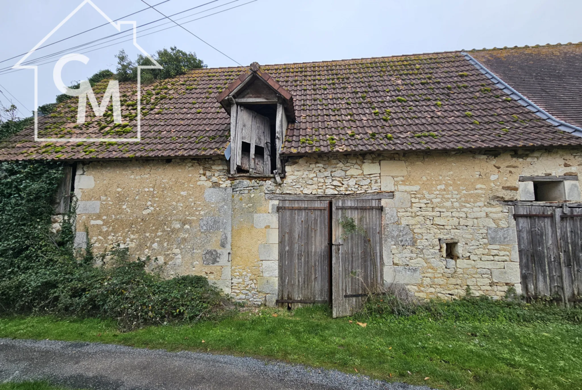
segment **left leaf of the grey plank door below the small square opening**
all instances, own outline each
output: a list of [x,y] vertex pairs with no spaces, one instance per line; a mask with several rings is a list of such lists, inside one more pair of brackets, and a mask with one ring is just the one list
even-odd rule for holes
[[556,207],[515,206],[521,288],[530,298],[562,296]]

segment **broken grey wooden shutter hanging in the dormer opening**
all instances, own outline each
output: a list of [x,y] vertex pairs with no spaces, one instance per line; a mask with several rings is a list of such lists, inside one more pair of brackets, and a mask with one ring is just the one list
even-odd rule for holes
[[[233,106],[236,115],[232,115],[235,123],[232,134],[230,173],[237,173],[237,169],[249,171],[250,174],[271,173],[271,125],[266,116],[243,106]],[[232,128],[231,124],[231,128]],[[243,143],[249,144],[249,151],[243,151]],[[263,154],[257,153],[257,146],[262,148]],[[246,148],[245,148],[246,149]]]

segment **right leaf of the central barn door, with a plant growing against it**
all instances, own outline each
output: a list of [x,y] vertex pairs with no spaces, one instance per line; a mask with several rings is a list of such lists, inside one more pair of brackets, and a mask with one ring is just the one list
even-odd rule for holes
[[[333,201],[333,317],[351,316],[382,282],[382,206],[371,199]],[[347,224],[346,224],[347,222]],[[354,229],[349,228],[352,224]]]

